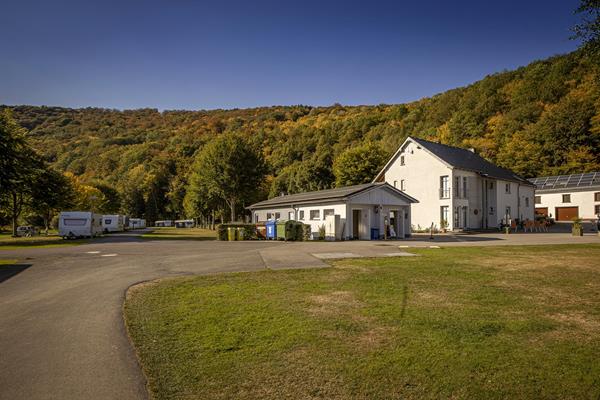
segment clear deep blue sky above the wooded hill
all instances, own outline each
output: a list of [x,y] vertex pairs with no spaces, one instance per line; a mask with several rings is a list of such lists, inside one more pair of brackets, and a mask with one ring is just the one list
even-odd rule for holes
[[574,50],[578,0],[14,0],[0,103],[401,103]]

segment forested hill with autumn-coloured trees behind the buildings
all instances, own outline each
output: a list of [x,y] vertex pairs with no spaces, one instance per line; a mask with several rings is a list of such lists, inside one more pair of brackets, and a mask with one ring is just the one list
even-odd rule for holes
[[599,77],[598,66],[576,52],[398,105],[12,108],[56,168],[122,193],[149,185],[176,192],[194,153],[231,132],[262,148],[271,175],[266,186],[277,193],[331,186],[332,162],[343,150],[372,141],[389,154],[408,135],[473,147],[525,177],[600,170]]

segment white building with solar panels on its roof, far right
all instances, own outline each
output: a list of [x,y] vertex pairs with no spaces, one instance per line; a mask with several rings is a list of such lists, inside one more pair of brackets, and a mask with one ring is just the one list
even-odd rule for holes
[[557,221],[595,219],[600,215],[600,172],[545,176],[531,182],[536,186],[536,214]]

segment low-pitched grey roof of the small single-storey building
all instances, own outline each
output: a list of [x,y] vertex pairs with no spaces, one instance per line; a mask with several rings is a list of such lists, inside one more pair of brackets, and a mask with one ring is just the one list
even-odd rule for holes
[[374,182],[374,183],[364,183],[362,185],[354,185],[354,186],[344,186],[341,188],[335,189],[326,189],[326,190],[317,190],[315,192],[305,192],[305,193],[297,193],[290,194],[285,196],[274,197],[269,200],[264,200],[249,206],[249,209],[256,208],[265,208],[265,207],[273,207],[273,206],[292,206],[292,205],[302,205],[307,203],[315,203],[315,202],[334,202],[334,201],[344,201],[350,197],[356,196],[360,193],[367,192],[374,188],[385,188],[387,190],[391,190],[397,195],[403,197],[409,203],[417,203],[418,201],[413,197],[410,197],[406,193],[396,189],[385,182]]

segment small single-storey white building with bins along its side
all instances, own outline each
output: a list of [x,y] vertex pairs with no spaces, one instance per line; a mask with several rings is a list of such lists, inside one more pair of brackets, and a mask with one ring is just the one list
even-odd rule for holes
[[328,216],[339,215],[344,239],[369,240],[373,234],[383,237],[389,226],[398,238],[410,236],[411,204],[416,202],[386,183],[367,183],[279,196],[248,208],[254,222],[296,220],[310,225],[313,236]]

